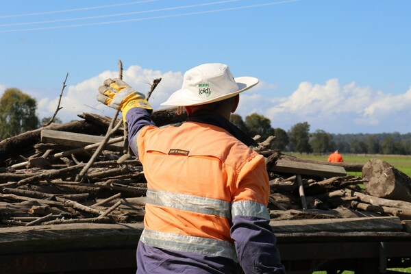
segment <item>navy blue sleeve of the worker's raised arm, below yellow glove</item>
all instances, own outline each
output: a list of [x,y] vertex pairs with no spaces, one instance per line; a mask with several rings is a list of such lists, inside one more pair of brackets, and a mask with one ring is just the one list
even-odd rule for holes
[[142,127],[145,127],[146,125],[155,125],[155,123],[151,119],[150,113],[145,108],[131,108],[125,114],[125,121],[127,121],[128,124],[129,146],[132,148],[134,154],[138,156],[138,132],[142,129]]

